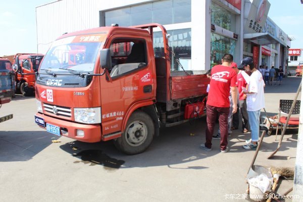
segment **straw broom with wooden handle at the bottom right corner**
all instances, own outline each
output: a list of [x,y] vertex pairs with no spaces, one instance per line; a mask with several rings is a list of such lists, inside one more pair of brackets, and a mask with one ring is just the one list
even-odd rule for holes
[[[272,186],[272,189],[271,189],[271,192],[270,193],[274,193],[276,188],[277,188],[277,185],[278,185],[278,181],[279,181],[279,178],[280,176],[286,178],[286,179],[289,179],[289,178],[293,178],[294,176],[294,170],[291,169],[291,168],[276,168],[276,167],[271,167],[270,168],[270,171],[273,175],[273,178],[274,178],[274,184]],[[272,197],[268,198],[266,200],[266,202],[270,202],[272,199]]]

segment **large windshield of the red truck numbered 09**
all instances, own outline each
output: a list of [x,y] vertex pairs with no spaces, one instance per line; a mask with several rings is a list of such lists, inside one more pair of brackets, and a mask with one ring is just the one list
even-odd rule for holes
[[39,73],[40,71],[93,72],[105,36],[105,34],[90,34],[55,41],[44,56]]

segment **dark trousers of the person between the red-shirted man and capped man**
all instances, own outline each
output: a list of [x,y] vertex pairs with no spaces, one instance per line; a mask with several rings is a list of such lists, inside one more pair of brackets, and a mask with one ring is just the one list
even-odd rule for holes
[[246,128],[247,130],[249,130],[249,122],[248,122],[246,100],[239,100],[238,107],[239,107],[239,110],[237,110],[237,113],[235,113],[233,115],[232,125],[235,128],[239,127],[239,114],[238,114],[238,111],[240,111],[241,112],[241,116],[242,116],[242,130],[244,130],[244,128]]

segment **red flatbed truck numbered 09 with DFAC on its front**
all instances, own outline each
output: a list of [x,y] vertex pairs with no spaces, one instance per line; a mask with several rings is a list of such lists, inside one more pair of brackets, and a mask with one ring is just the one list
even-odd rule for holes
[[[153,29],[162,31],[155,57]],[[171,71],[169,35],[160,24],[98,27],[59,37],[37,74],[35,122],[84,142],[114,140],[142,153],[159,135],[204,114],[204,71]],[[157,47],[159,52],[159,47]]]

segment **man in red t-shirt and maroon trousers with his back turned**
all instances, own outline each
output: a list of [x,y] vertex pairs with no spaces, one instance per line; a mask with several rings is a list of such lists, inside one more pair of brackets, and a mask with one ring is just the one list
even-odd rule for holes
[[212,68],[210,91],[206,103],[206,142],[200,145],[201,148],[208,151],[212,149],[212,138],[217,117],[219,117],[221,132],[221,153],[228,151],[227,135],[230,106],[228,96],[230,91],[233,100],[232,113],[237,111],[237,73],[230,67],[232,62],[233,56],[231,54],[225,54],[222,58],[222,65],[216,65]]

